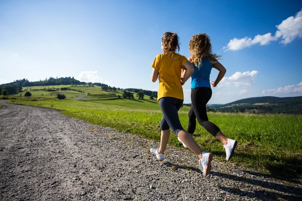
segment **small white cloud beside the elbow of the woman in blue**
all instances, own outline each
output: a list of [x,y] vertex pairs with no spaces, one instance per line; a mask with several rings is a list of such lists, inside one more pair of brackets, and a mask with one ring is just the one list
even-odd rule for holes
[[251,86],[252,83],[255,83],[255,77],[258,73],[259,72],[257,70],[253,70],[251,72],[236,72],[230,77],[223,77],[217,86]]

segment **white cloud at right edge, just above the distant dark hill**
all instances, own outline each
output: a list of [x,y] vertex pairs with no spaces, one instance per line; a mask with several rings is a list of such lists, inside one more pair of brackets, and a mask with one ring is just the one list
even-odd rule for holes
[[287,85],[275,89],[263,90],[262,94],[265,95],[302,95],[302,82],[295,85]]

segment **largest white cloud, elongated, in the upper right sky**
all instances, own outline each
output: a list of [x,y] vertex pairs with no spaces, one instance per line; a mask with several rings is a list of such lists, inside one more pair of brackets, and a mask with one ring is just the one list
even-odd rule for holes
[[277,31],[275,36],[271,33],[264,35],[257,35],[254,39],[244,37],[242,39],[234,38],[230,40],[224,51],[228,50],[241,50],[246,47],[250,47],[255,44],[267,45],[271,41],[281,39],[280,43],[287,44],[293,41],[295,38],[302,37],[302,9],[295,16],[290,16],[286,20],[283,20],[281,24],[276,25]]

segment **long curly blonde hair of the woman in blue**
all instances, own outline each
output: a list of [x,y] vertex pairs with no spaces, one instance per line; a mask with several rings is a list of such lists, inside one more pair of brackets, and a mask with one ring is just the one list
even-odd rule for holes
[[189,51],[192,62],[200,67],[202,59],[208,59],[209,62],[217,63],[218,59],[222,59],[221,55],[212,53],[212,45],[210,37],[207,34],[195,34],[189,42]]

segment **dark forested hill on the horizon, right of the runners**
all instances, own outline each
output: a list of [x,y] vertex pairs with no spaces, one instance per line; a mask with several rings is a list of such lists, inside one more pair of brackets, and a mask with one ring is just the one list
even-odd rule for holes
[[224,105],[208,106],[221,112],[255,114],[302,114],[302,96],[296,97],[250,97]]

